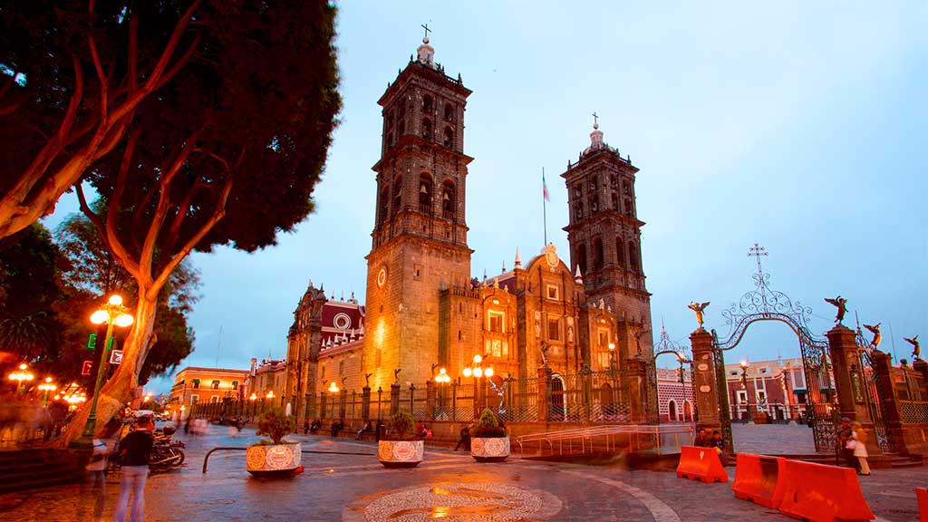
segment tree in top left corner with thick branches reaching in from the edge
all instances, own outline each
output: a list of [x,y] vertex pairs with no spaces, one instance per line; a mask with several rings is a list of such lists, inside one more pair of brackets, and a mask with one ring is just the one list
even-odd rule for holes
[[0,7],[0,239],[51,214],[122,140],[139,105],[202,48],[191,30],[200,7],[200,0]]

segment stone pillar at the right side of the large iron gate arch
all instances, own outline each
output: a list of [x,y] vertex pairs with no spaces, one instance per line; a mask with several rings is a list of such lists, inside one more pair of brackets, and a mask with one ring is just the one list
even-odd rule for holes
[[831,372],[838,392],[838,408],[842,417],[860,424],[872,424],[864,381],[857,351],[857,334],[843,324],[837,324],[825,333],[831,355]]

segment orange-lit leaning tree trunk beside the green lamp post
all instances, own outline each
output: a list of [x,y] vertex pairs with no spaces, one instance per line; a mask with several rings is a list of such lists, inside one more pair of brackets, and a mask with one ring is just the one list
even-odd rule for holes
[[[148,341],[151,338],[152,328],[155,324],[155,311],[158,305],[158,292],[139,288],[138,303],[132,310],[135,322],[132,331],[122,344],[122,364],[116,369],[112,377],[100,388],[100,398],[97,400],[97,424],[94,433],[97,434],[107,424],[113,415],[116,415],[125,404],[135,398],[134,390],[138,386],[138,373],[148,357]],[[154,297],[152,297],[154,296]],[[93,390],[89,390],[93,391]],[[81,437],[84,424],[90,415],[90,405],[93,398],[84,402],[84,407],[77,411],[74,419],[62,432],[59,444],[68,446],[73,440]]]

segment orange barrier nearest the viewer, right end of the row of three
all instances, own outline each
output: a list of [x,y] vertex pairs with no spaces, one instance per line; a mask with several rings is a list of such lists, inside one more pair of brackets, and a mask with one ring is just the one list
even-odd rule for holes
[[874,518],[853,468],[791,460],[785,464],[783,515],[810,522]]

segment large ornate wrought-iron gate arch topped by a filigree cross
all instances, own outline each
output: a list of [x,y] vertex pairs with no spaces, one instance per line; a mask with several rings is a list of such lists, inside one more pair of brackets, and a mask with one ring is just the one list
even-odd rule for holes
[[[816,450],[834,451],[839,407],[837,390],[831,375],[828,340],[809,331],[811,307],[793,301],[787,294],[770,288],[770,274],[765,273],[760,264],[760,256],[767,255],[764,249],[754,243],[748,255],[757,257],[757,272],[751,275],[754,290],[742,294],[738,303],[732,303],[730,307],[722,310],[722,318],[728,325],[725,340],[719,339],[715,329],[712,331],[723,437],[730,444],[728,447],[734,448],[724,352],[738,346],[747,328],[754,322],[775,320],[788,325],[799,340],[803,373],[806,377],[806,416],[811,417]],[[721,394],[722,390],[725,390],[724,395]]]

